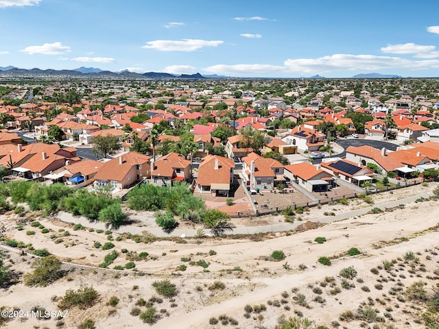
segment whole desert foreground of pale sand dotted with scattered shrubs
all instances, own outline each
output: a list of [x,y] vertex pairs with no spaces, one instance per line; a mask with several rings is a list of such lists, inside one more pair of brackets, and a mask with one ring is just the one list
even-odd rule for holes
[[[0,326],[427,328],[425,296],[439,282],[439,212],[437,198],[420,196],[433,195],[437,186],[372,195],[373,204],[351,199],[305,209],[292,230],[252,235],[210,237],[209,230],[195,227],[196,237],[163,238],[147,233],[156,228],[154,217],[139,213],[140,234],[38,213],[6,214],[1,251],[14,282],[1,289],[0,307],[16,317],[21,310],[22,316],[3,317]],[[411,196],[419,198],[379,208]],[[343,217],[370,206],[375,208],[364,215]],[[285,217],[233,221],[239,228]],[[62,276],[47,287],[28,287],[26,273],[34,270],[34,252],[41,249],[64,262]],[[67,291],[84,288],[94,290],[93,302],[66,302]],[[30,315],[67,306],[65,317]],[[282,327],[290,317],[302,326]],[[312,324],[305,326],[305,319]]]

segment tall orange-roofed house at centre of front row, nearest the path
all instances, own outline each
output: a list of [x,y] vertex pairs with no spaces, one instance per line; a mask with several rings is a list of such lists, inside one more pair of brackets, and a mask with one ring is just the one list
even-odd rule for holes
[[199,193],[227,196],[233,183],[235,162],[222,156],[206,156],[198,168],[197,188]]

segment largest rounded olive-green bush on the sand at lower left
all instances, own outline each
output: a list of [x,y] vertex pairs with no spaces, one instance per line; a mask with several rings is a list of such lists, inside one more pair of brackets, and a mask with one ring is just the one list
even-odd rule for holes
[[26,273],[24,282],[27,286],[46,287],[62,277],[61,262],[55,256],[38,258],[31,265],[34,271]]

